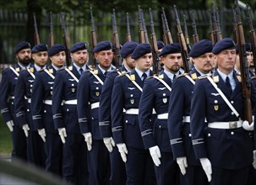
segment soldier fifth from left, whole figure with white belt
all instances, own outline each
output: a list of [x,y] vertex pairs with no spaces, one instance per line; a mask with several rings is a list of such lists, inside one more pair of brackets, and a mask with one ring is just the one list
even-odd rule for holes
[[109,156],[99,129],[101,88],[106,73],[112,71],[113,51],[109,41],[99,42],[93,49],[99,65],[84,72],[78,85],[78,115],[80,133],[89,151],[89,183],[108,184],[110,177]]

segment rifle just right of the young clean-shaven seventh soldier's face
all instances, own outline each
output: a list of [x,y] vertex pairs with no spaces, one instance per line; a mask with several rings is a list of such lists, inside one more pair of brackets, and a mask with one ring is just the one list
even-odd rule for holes
[[149,8],[149,11],[150,11],[150,27],[151,27],[150,40],[151,40],[151,47],[153,49],[152,55],[153,55],[154,72],[155,74],[157,74],[159,70],[158,66],[160,66],[158,65],[158,62],[159,62],[158,47],[157,47],[157,41],[155,36],[155,28],[154,28],[154,21],[153,21],[151,8]]

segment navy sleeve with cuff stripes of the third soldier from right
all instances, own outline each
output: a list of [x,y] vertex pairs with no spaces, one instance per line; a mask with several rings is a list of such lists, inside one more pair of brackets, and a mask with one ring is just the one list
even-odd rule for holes
[[154,122],[150,119],[152,117],[152,110],[154,108],[154,87],[150,82],[154,79],[147,79],[144,82],[143,92],[139,100],[139,128],[144,142],[145,149],[156,145],[153,137]]

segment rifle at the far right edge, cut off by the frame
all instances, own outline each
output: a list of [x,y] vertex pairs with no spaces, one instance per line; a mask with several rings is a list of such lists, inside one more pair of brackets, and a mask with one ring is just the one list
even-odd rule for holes
[[246,10],[247,10],[246,13],[248,18],[248,24],[250,26],[249,33],[250,33],[250,39],[252,43],[252,50],[253,50],[253,64],[254,64],[254,69],[256,69],[256,34],[253,28],[253,18],[251,14],[251,9],[248,7],[248,5],[246,6]]

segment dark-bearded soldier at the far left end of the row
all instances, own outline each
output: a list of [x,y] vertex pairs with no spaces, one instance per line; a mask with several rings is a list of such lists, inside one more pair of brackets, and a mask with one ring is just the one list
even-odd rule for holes
[[3,120],[12,132],[12,141],[14,150],[12,151],[12,160],[21,159],[27,161],[27,144],[23,129],[14,113],[14,90],[19,77],[19,71],[30,67],[31,49],[29,42],[19,43],[14,50],[17,63],[10,66],[2,73],[0,83],[0,108],[3,114]]

